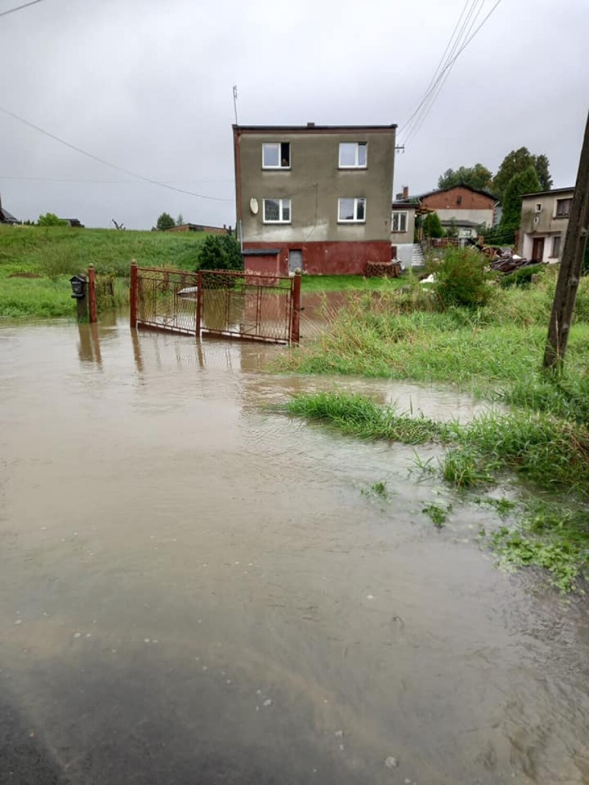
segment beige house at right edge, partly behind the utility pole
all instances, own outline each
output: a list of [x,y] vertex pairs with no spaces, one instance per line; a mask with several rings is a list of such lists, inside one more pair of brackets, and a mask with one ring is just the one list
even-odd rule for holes
[[560,261],[569,226],[574,188],[524,194],[521,200],[519,254],[534,261]]

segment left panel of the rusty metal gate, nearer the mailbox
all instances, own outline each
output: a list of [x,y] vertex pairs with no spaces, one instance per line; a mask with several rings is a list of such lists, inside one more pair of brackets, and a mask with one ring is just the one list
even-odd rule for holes
[[196,334],[195,272],[137,268],[137,327]]

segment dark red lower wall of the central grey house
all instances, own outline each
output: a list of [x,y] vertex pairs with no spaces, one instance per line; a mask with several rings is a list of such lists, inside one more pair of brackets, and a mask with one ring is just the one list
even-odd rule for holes
[[[382,240],[365,243],[243,243],[243,248],[280,248],[279,267],[283,276],[288,275],[289,250],[302,250],[303,272],[311,276],[363,276],[368,261],[391,260],[390,243]],[[273,269],[269,269],[268,257],[246,257],[245,264],[252,271],[276,272],[276,261],[273,261]]]

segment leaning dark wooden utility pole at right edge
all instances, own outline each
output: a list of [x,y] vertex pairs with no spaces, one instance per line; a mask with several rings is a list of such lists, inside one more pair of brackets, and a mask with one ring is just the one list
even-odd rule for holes
[[558,282],[554,292],[548,340],[544,349],[544,368],[559,369],[565,360],[576,290],[583,272],[587,232],[589,232],[589,113],[587,113],[579,171],[576,175],[573,204],[569,214],[569,228],[566,232],[565,248],[562,251]]

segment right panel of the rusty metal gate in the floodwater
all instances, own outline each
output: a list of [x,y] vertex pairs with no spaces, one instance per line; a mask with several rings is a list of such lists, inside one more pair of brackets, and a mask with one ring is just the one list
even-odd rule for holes
[[203,335],[288,343],[292,279],[287,276],[203,270]]

